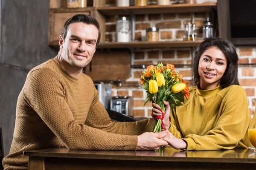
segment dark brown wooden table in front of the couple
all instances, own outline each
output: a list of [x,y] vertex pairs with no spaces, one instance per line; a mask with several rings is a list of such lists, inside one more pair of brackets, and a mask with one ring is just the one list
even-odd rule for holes
[[255,170],[250,149],[181,151],[102,151],[54,148],[25,151],[29,170]]

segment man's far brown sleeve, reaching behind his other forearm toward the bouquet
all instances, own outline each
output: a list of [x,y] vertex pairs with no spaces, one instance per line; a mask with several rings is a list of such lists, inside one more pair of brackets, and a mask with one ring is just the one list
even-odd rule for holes
[[137,122],[112,122],[108,112],[99,102],[99,94],[95,88],[94,94],[93,103],[85,122],[86,125],[106,132],[126,135],[140,135],[153,130],[154,120],[152,118]]

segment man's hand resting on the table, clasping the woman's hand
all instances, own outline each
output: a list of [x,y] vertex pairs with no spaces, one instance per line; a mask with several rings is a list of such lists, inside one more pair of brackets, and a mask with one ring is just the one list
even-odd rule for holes
[[168,132],[168,130],[159,133],[145,132],[139,135],[136,150],[157,150],[161,146],[167,146],[168,142],[163,138],[167,136]]

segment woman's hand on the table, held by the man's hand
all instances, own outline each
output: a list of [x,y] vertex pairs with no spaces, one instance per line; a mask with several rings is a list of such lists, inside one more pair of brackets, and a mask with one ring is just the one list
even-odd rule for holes
[[187,143],[184,140],[176,138],[172,133],[170,133],[167,130],[165,130],[164,132],[166,132],[167,135],[161,139],[168,142],[168,144],[170,146],[172,146],[175,149],[186,149],[187,148]]

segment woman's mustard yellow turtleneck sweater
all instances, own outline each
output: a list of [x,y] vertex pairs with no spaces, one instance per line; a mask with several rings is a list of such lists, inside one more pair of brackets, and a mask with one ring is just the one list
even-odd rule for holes
[[220,150],[251,146],[250,111],[239,85],[211,90],[189,89],[190,97],[171,113],[169,131],[187,142],[186,150]]

